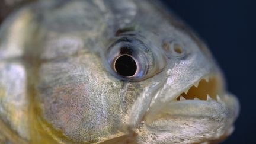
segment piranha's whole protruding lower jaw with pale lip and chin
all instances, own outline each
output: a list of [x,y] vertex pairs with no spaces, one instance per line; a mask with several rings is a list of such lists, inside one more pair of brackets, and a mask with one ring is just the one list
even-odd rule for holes
[[158,133],[158,137],[170,133],[168,139],[174,139],[174,134],[191,143],[220,142],[232,133],[238,113],[238,100],[231,94],[222,95],[219,101],[171,101],[161,113],[145,117],[143,132],[148,131],[149,136]]

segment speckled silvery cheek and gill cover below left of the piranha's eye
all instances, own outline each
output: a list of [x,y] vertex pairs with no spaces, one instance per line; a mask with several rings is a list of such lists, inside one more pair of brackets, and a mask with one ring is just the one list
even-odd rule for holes
[[109,76],[91,53],[45,63],[40,71],[43,118],[74,142],[122,136],[122,82]]

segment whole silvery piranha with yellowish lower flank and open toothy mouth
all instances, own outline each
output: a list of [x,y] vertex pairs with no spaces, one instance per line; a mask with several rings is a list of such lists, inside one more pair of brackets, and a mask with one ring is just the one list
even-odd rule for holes
[[0,143],[216,143],[239,102],[157,1],[37,1],[0,28]]

